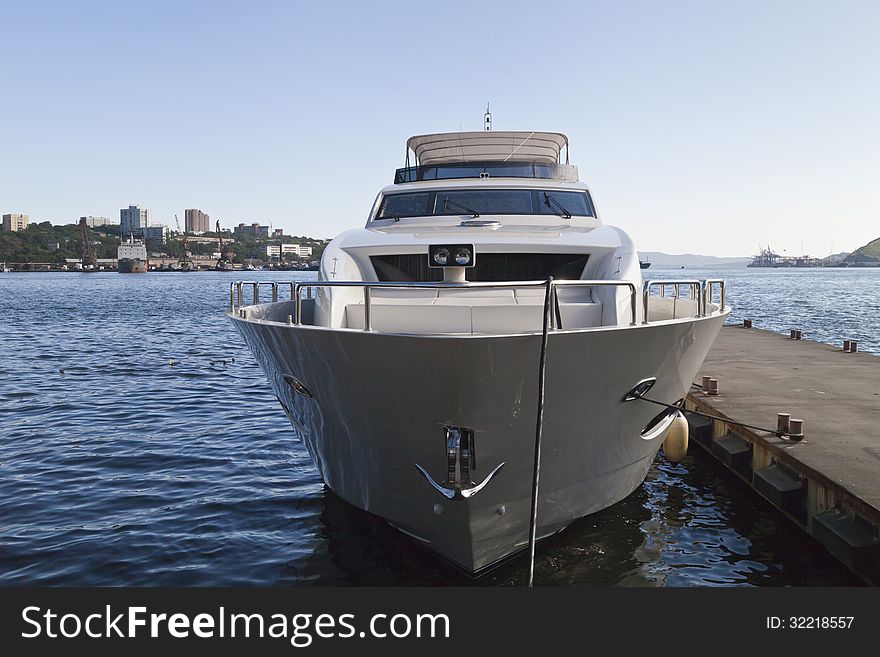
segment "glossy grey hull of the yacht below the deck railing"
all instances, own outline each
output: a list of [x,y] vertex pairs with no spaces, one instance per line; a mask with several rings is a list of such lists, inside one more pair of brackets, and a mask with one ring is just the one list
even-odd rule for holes
[[[229,316],[337,495],[471,572],[526,546],[540,335],[291,326],[259,319],[270,307]],[[642,432],[663,409],[623,397],[649,377],[650,397],[686,396],[726,316],[550,334],[539,537],[644,481],[663,435]],[[419,469],[446,479],[446,426],[474,432],[475,482],[504,464],[467,499],[447,499]]]

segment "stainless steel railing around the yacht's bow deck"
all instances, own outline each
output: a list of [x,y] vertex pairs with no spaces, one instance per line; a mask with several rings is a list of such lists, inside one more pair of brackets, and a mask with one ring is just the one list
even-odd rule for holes
[[[229,285],[229,312],[235,314],[236,309],[244,306],[244,288],[252,289],[253,305],[260,303],[261,287],[270,287],[272,294],[272,303],[279,300],[278,290],[284,286],[289,289],[289,300],[294,302],[294,315],[292,317],[293,324],[300,326],[302,324],[302,291],[306,290],[308,297],[312,298],[312,291],[316,288],[328,287],[359,287],[364,291],[364,330],[372,331],[372,294],[371,291],[376,288],[391,289],[519,289],[519,288],[539,288],[546,287],[547,281],[478,281],[470,283],[456,283],[447,281],[431,281],[424,283],[407,283],[407,282],[385,282],[385,281],[235,281]],[[712,302],[712,294],[716,286],[719,288],[720,309],[724,309],[724,281],[721,279],[708,279],[699,281],[696,279],[686,280],[648,280],[642,286],[642,323],[648,323],[649,300],[652,296],[651,291],[660,287],[660,296],[666,296],[667,286],[673,288],[674,298],[681,298],[682,287],[689,289],[691,300],[697,302],[697,317],[704,317],[708,314],[709,304]],[[551,304],[554,312],[550,314],[550,328],[556,329],[556,312],[558,308],[558,288],[559,287],[626,287],[629,288],[630,301],[630,326],[635,326],[637,320],[637,304],[638,289],[634,283],[629,281],[610,281],[610,280],[560,280],[552,281],[550,284]]]

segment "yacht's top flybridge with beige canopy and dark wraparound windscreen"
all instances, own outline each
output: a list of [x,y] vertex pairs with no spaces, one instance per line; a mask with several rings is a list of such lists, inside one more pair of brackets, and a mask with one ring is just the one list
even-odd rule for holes
[[[410,164],[410,152],[415,155],[415,166]],[[569,164],[568,137],[524,131],[416,135],[406,142],[406,166],[397,169],[394,183],[498,177],[576,181],[577,167]]]

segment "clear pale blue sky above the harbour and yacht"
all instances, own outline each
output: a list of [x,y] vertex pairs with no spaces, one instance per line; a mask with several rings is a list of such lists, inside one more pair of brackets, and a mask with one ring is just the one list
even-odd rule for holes
[[413,134],[558,130],[643,250],[880,236],[880,2],[0,4],[0,211],[332,237]]

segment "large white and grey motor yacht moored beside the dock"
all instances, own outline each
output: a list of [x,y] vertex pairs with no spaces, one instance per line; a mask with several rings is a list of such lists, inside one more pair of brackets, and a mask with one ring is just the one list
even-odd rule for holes
[[470,572],[633,492],[729,313],[642,280],[551,132],[410,138],[317,281],[229,302],[324,482]]

